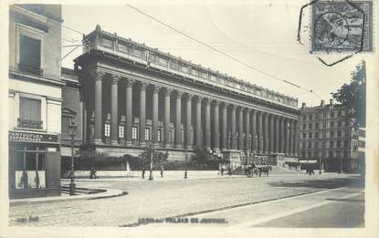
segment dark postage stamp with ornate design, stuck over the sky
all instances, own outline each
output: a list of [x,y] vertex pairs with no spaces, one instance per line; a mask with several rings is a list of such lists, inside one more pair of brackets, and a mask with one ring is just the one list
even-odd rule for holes
[[373,2],[317,1],[311,6],[312,52],[373,51]]

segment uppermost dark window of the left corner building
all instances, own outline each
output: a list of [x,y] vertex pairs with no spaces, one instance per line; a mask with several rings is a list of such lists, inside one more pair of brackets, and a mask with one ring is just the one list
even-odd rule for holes
[[41,41],[20,34],[19,46],[20,69],[39,74],[41,68]]

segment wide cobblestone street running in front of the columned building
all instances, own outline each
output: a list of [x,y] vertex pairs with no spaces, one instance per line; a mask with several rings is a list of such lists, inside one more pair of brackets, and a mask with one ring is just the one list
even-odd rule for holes
[[[314,191],[364,185],[356,175],[322,174],[188,181],[81,181],[78,186],[120,189],[128,194],[97,200],[12,205],[10,225],[129,226],[136,225],[141,218],[189,216]],[[38,217],[38,221],[20,222],[30,216]]]

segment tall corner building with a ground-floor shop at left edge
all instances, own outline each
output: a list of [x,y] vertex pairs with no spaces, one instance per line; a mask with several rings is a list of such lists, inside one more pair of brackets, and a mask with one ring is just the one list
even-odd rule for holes
[[9,7],[9,195],[60,194],[61,7]]

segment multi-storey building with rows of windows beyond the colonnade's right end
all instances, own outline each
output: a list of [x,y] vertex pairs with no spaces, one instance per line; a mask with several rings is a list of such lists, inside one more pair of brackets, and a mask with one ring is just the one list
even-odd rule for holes
[[327,105],[321,100],[320,106],[312,108],[303,103],[299,159],[320,161],[325,171],[362,170],[364,129],[353,126],[350,112],[332,99]]

